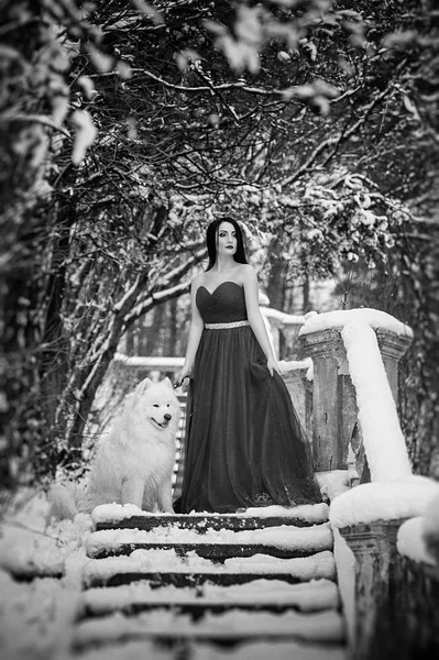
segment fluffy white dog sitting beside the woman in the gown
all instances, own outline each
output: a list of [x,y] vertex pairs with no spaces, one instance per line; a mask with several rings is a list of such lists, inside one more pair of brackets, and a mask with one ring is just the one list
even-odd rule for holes
[[50,516],[73,518],[99,504],[134,504],[173,513],[172,474],[179,404],[169,378],[145,378],[128,397],[121,415],[97,451],[85,492],[75,484],[51,491]]

